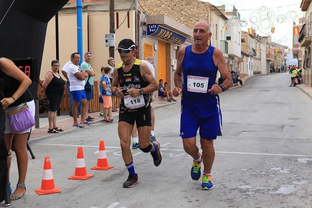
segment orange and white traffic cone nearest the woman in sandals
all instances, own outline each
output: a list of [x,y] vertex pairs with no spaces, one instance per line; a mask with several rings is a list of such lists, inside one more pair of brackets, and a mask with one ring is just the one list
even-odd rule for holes
[[53,194],[53,193],[60,193],[61,192],[61,190],[54,185],[54,179],[53,179],[53,174],[52,174],[50,157],[44,158],[41,188],[38,188],[35,191],[39,195]]

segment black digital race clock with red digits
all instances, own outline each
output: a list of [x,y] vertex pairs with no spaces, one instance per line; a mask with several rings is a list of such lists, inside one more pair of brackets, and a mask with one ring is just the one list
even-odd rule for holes
[[37,74],[37,59],[12,59],[13,63],[19,68],[25,75],[27,75],[32,82],[38,83]]

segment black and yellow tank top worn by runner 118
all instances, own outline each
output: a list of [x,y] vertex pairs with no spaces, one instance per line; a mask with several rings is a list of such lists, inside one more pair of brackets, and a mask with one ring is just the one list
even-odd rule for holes
[[[128,72],[124,72],[124,70],[122,68],[123,62],[121,62],[117,66],[119,85],[120,85],[120,88],[122,89],[124,96],[129,95],[127,92],[128,89],[131,89],[131,88],[140,89],[140,88],[144,88],[147,85],[149,85],[149,83],[147,81],[145,81],[141,75],[140,63],[141,63],[141,60],[136,59],[134,61],[134,65],[132,66],[132,68]],[[150,94],[143,94],[143,99],[144,99],[144,106],[141,106],[139,108],[129,109],[125,106],[125,102],[124,102],[124,98],[123,98],[120,101],[120,109],[127,111],[127,112],[135,112],[135,111],[138,111],[140,109],[144,109],[144,108],[148,107],[149,104],[151,103],[151,95]],[[136,100],[133,100],[133,101],[136,101]],[[133,102],[133,101],[130,100],[130,102]],[[138,100],[138,101],[141,102],[140,100]],[[142,103],[140,103],[140,105],[142,105]],[[138,105],[138,106],[140,106],[140,105]]]

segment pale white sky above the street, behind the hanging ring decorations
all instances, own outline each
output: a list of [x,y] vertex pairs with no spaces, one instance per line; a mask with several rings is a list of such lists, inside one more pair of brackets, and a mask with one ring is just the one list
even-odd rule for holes
[[[258,12],[259,8],[262,6],[268,7],[269,11],[273,11],[275,13],[273,25],[275,27],[274,34],[272,34],[272,38],[275,38],[277,42],[278,39],[286,39],[287,41],[282,41],[280,44],[288,46],[292,48],[292,34],[293,34],[293,21],[288,21],[287,19],[283,23],[278,23],[276,21],[276,17],[279,14],[283,14],[286,16],[287,12],[295,11],[297,16],[298,14],[305,15],[305,12],[302,12],[300,9],[301,0],[202,0],[204,2],[209,2],[215,6],[226,5],[226,9],[233,8],[232,5],[235,5],[236,9],[241,15],[241,19],[245,18],[248,20],[248,25],[246,27],[242,27],[242,30],[247,31],[248,27],[251,27],[253,23],[249,21],[249,17],[252,12]],[[291,6],[289,6],[291,5]],[[296,24],[298,23],[298,17],[295,20]],[[259,23],[256,23],[259,25]],[[261,34],[259,29],[256,31],[257,34],[266,36]],[[270,34],[269,34],[270,35]],[[286,37],[286,38],[285,38]]]

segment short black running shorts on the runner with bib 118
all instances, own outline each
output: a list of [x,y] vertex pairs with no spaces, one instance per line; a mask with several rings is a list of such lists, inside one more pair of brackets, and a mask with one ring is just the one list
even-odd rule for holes
[[131,125],[134,125],[134,122],[136,122],[137,128],[141,126],[152,126],[150,105],[144,109],[140,109],[134,112],[127,112],[123,110],[123,108],[121,108],[121,106],[119,108],[119,121],[118,122],[124,121]]

